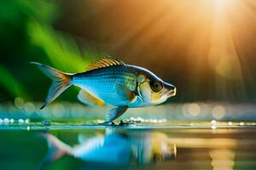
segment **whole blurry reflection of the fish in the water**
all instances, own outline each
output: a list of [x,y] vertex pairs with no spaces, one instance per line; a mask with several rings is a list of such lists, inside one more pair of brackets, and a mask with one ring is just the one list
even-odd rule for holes
[[109,133],[87,139],[73,148],[50,133],[42,135],[49,145],[42,166],[65,155],[110,164],[154,163],[172,160],[176,156],[176,145],[164,133]]

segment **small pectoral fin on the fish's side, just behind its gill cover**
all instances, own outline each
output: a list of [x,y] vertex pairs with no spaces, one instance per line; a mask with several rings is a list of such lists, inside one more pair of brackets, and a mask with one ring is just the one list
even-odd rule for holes
[[117,90],[119,100],[129,100],[131,103],[136,98],[136,95],[131,92],[129,88],[126,88],[124,84],[116,82],[114,88]]

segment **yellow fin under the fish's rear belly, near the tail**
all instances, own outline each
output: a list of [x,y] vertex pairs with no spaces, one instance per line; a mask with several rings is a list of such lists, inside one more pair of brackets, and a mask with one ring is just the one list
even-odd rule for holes
[[93,94],[90,94],[89,92],[83,89],[79,91],[78,99],[86,105],[99,106],[99,107],[105,105],[105,102],[102,101],[102,99],[96,98],[96,96],[94,96]]

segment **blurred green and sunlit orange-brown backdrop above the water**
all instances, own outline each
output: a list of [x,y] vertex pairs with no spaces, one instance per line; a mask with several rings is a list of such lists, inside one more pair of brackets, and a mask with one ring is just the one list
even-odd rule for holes
[[255,102],[255,5],[216,2],[3,0],[0,102],[44,101],[50,80],[30,61],[79,72],[104,55],[173,83],[172,102]]

